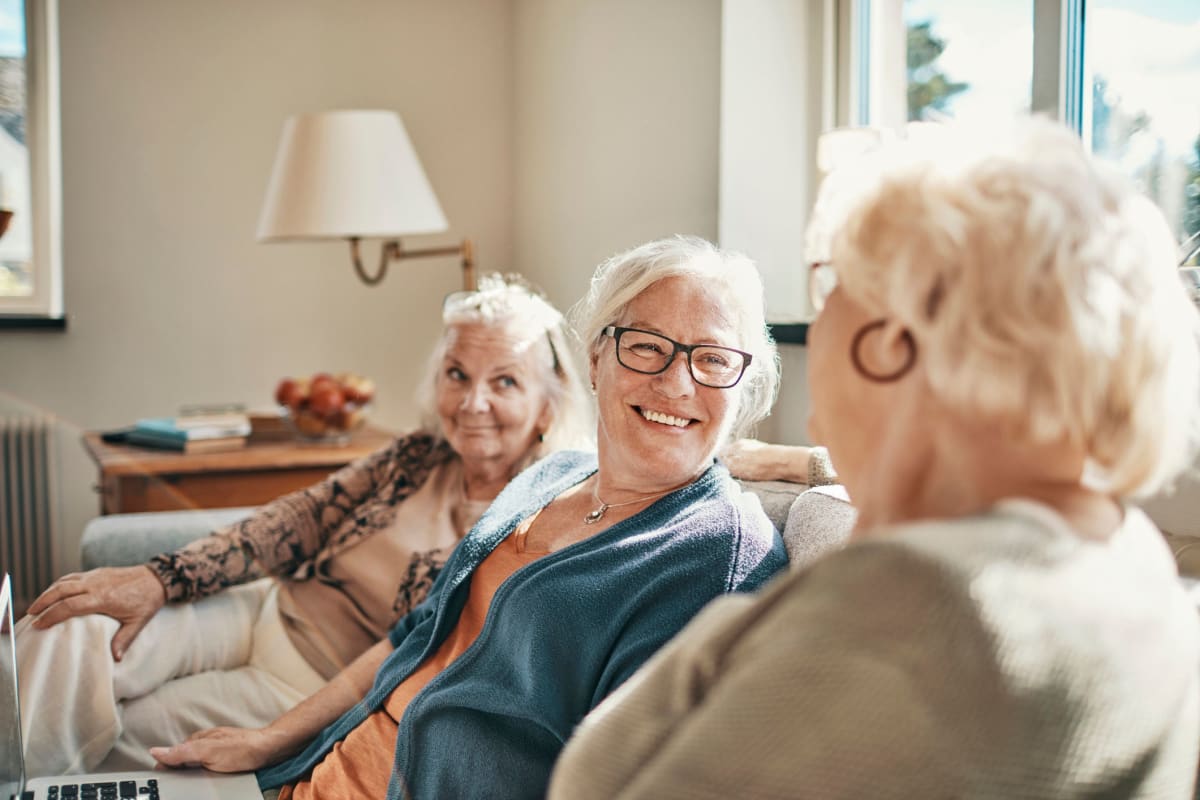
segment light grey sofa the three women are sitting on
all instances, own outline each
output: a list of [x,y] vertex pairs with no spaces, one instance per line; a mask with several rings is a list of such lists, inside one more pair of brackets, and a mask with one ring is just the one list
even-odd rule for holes
[[[784,536],[793,567],[840,547],[854,527],[854,509],[840,486],[809,488],[788,481],[740,481],[756,495]],[[244,519],[253,507],[150,511],[97,517],[80,541],[80,566],[130,566],[174,551],[214,530]]]

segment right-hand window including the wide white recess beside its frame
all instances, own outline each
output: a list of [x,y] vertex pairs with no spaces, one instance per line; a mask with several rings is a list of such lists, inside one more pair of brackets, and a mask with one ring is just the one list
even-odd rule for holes
[[812,318],[799,231],[835,127],[1049,114],[1200,230],[1198,0],[739,0],[721,78],[720,241],[773,323]]

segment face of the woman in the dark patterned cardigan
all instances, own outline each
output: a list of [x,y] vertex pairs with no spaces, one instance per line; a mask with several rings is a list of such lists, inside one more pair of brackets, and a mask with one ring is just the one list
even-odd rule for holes
[[446,329],[434,389],[438,419],[468,471],[512,474],[548,427],[544,342],[511,323]]

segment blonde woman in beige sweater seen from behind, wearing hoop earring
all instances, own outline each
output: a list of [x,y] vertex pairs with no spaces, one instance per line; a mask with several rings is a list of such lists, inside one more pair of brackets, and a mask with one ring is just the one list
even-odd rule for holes
[[1200,431],[1162,213],[1046,121],[913,132],[818,205],[809,429],[854,536],[713,603],[551,798],[1192,798],[1196,608],[1132,503]]

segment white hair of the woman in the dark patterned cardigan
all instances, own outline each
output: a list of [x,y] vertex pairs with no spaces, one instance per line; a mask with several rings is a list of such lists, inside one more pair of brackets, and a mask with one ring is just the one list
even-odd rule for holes
[[421,429],[442,439],[437,411],[437,379],[446,353],[446,332],[452,325],[480,323],[526,331],[530,339],[545,342],[538,373],[550,404],[551,423],[534,453],[540,458],[556,450],[590,449],[595,438],[592,398],[583,383],[577,359],[577,342],[563,314],[541,290],[516,273],[492,272],[479,278],[474,291],[456,291],[442,307],[442,336],[430,354],[416,390]]

